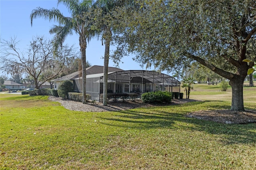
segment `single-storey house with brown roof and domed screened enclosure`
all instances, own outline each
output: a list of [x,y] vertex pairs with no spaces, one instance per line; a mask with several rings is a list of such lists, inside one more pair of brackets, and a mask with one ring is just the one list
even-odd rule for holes
[[[100,94],[103,93],[103,68],[99,65],[86,68],[86,94],[91,95],[91,99],[95,101],[99,101]],[[80,71],[52,80],[54,88],[58,89],[64,80],[72,81],[74,92],[82,92]],[[138,93],[138,97],[141,97],[143,93],[151,91],[180,92],[180,81],[156,71],[125,71],[108,67],[108,93]]]

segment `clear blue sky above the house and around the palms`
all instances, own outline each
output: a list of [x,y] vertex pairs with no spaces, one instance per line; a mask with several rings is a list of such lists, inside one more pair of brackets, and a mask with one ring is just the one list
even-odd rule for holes
[[[19,41],[19,49],[26,50],[33,36],[44,36],[49,39],[53,38],[54,35],[49,34],[49,30],[53,25],[58,25],[58,23],[36,18],[33,20],[33,26],[31,26],[30,14],[32,10],[37,7],[45,9],[58,8],[64,16],[70,16],[66,6],[62,4],[57,6],[57,0],[0,0],[1,40],[10,40],[10,38],[16,37],[16,40]],[[68,44],[69,46],[74,45],[79,51],[78,38],[78,35],[74,33],[66,38],[64,44]],[[113,50],[115,48],[111,47],[111,49]],[[102,46],[101,40],[94,38],[87,45],[86,60],[88,60],[91,65],[104,65],[102,56],[104,56],[104,46]],[[132,56],[124,57],[122,62],[123,63],[119,64],[120,69],[145,69],[140,67],[139,63],[133,61]],[[116,67],[111,59],[108,66]],[[154,67],[151,69],[154,69]]]

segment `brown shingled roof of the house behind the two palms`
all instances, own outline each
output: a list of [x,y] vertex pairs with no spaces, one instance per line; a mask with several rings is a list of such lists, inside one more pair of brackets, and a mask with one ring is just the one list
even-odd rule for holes
[[[120,68],[117,67],[108,67],[108,72],[114,72],[114,71],[124,71]],[[87,75],[92,75],[92,74],[99,74],[99,73],[104,73],[104,67],[100,65],[93,65],[91,67],[86,68],[86,77]],[[81,71],[76,71],[74,73],[71,73],[69,75],[65,75],[63,77],[60,77],[58,79],[54,79],[52,81],[64,81],[64,80],[74,80],[76,78],[81,77]]]

